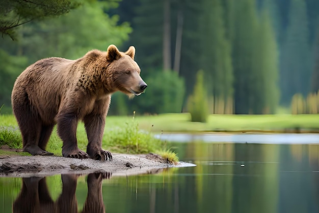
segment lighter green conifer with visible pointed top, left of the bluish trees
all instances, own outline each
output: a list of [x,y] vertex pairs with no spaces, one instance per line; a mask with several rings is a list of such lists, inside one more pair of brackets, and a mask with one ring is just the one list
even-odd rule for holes
[[255,43],[254,114],[275,113],[279,101],[278,49],[269,10],[262,9]]

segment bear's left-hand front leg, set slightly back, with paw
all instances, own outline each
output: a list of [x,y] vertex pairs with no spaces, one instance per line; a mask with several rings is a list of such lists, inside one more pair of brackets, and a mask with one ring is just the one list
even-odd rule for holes
[[57,116],[58,134],[63,141],[62,155],[63,157],[72,158],[88,158],[88,154],[79,150],[76,140],[76,128],[78,118],[76,114],[71,112],[61,112]]

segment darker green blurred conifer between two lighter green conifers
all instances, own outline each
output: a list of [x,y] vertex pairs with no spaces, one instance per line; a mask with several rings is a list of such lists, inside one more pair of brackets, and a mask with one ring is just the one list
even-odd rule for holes
[[253,75],[254,44],[258,25],[254,0],[234,3],[232,59],[234,70],[234,106],[236,114],[249,114],[253,107],[252,92],[258,82]]

